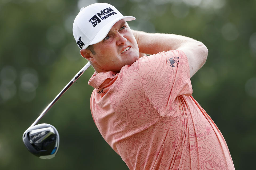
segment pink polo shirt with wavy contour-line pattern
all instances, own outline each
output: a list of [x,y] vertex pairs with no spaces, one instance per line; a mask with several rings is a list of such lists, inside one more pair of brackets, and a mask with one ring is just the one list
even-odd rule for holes
[[94,73],[88,84],[93,120],[129,169],[234,169],[221,132],[191,96],[182,51]]

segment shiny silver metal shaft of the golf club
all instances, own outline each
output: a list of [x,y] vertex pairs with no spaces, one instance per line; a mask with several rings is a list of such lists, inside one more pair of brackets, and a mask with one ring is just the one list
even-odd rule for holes
[[69,89],[69,87],[85,72],[85,70],[88,69],[88,67],[90,67],[90,62],[87,62],[85,66],[83,66],[83,68],[75,75],[75,77],[70,80],[70,82],[62,89],[61,92],[59,92],[59,94],[53,99],[53,101],[51,101],[51,103],[44,109],[44,111],[40,114],[40,116],[34,121],[34,123],[30,126],[34,126],[37,124],[37,122],[39,122],[39,120],[45,115],[45,113],[47,113],[50,108],[56,103],[56,101],[67,91],[67,89]]

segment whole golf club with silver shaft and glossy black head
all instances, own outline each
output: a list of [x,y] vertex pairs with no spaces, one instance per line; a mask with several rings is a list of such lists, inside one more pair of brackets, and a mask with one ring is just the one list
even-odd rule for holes
[[49,111],[56,101],[69,89],[69,87],[90,67],[90,62],[75,75],[73,79],[59,92],[51,103],[43,110],[34,123],[24,132],[22,140],[27,149],[41,159],[51,159],[55,156],[59,148],[59,133],[50,124],[38,124],[39,120]]

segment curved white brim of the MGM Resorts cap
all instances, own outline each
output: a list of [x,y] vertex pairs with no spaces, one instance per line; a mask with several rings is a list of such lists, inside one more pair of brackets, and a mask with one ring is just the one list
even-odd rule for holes
[[123,16],[120,18],[116,18],[114,20],[112,20],[111,22],[107,23],[104,27],[102,27],[99,32],[95,35],[95,37],[93,38],[93,40],[90,42],[90,45],[92,44],[96,44],[101,42],[109,33],[110,29],[112,28],[112,26],[117,23],[119,20],[125,20],[125,21],[132,21],[135,20],[135,17],[133,16]]

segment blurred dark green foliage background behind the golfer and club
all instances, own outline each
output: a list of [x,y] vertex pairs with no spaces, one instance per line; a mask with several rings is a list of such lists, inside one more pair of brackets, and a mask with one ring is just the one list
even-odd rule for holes
[[236,169],[255,169],[255,0],[1,0],[0,169],[128,169],[90,112],[90,67],[39,123],[60,135],[54,159],[27,151],[23,132],[85,65],[72,25],[81,7],[107,2],[132,29],[185,35],[209,50],[193,97],[221,130]]

